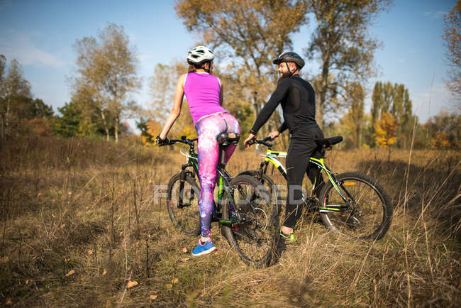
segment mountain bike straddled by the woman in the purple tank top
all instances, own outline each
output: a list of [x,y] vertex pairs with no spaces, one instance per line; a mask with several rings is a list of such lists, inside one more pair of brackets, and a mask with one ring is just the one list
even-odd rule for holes
[[[231,177],[226,171],[226,148],[228,145],[236,145],[239,138],[235,133],[222,133],[217,138],[217,194],[212,221],[220,225],[221,233],[244,263],[263,267],[270,264],[274,246],[277,245],[277,204],[271,201],[269,192],[255,177]],[[182,143],[189,147],[189,150],[180,150],[187,157],[187,163],[168,182],[167,209],[174,226],[191,236],[200,234],[200,188],[196,183],[199,165],[195,141],[196,138],[183,136],[167,142]]]

